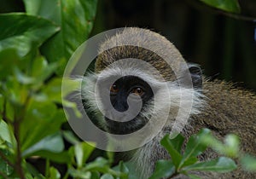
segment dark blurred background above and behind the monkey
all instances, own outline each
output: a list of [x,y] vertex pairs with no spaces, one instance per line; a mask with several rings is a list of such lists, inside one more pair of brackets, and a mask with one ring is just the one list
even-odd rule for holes
[[[21,0],[0,0],[0,13],[24,11]],[[4,3],[3,3],[4,2]],[[256,90],[256,0],[240,0],[241,14],[198,0],[98,0],[91,35],[124,26],[160,32],[210,78]]]

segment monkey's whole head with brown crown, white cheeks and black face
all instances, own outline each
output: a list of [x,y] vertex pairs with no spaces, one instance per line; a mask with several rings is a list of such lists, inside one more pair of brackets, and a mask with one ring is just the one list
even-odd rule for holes
[[113,135],[148,126],[143,138],[166,123],[180,131],[201,107],[200,67],[187,64],[166,38],[145,29],[125,28],[102,43],[95,72],[84,82],[84,105],[100,109],[96,124]]

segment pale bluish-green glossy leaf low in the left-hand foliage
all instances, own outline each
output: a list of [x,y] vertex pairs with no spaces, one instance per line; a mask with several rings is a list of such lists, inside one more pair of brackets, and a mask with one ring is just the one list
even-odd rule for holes
[[22,153],[22,156],[31,156],[32,153],[38,151],[49,151],[52,153],[61,153],[64,149],[64,141],[61,137],[61,134],[55,133],[50,136],[44,137],[41,141],[38,141],[32,147],[29,147]]

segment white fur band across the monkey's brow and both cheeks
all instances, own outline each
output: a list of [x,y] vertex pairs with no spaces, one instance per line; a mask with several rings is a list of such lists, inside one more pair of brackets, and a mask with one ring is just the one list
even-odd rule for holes
[[[104,70],[101,75],[99,75],[99,73],[90,72],[84,77],[79,77],[79,80],[81,80],[82,83],[80,95],[82,99],[86,101],[86,104],[84,105],[88,105],[90,111],[98,113],[99,107],[102,108],[100,96],[95,93],[96,81],[99,78],[102,80],[113,75],[137,76],[139,78],[143,78],[143,80],[146,81],[150,86],[158,88],[157,92],[154,93],[154,99],[149,101],[148,105],[144,107],[141,112],[141,116],[144,116],[145,118],[150,118],[151,116],[161,118],[162,111],[166,110],[166,107],[170,107],[169,119],[166,121],[166,123],[173,123],[178,111],[180,111],[182,115],[182,112],[185,112],[188,109],[188,106],[192,104],[189,113],[197,114],[201,112],[201,108],[205,104],[205,101],[203,100],[204,96],[199,90],[180,87],[177,85],[177,82],[161,82],[154,78],[154,76],[151,76],[146,72],[138,71],[137,69],[121,69],[116,67]],[[193,100],[192,102],[191,99]]]

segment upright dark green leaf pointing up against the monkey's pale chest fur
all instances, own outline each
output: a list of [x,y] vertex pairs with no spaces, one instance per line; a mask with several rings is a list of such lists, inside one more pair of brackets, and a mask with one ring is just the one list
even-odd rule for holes
[[[183,141],[183,138],[178,137],[181,141]],[[168,153],[171,155],[173,165],[175,165],[176,169],[178,165],[180,164],[182,160],[182,155],[177,152],[176,147],[174,147],[175,144],[177,144],[177,140],[171,140],[169,135],[166,135],[161,141],[161,145],[166,148]],[[178,147],[177,147],[178,148]]]

